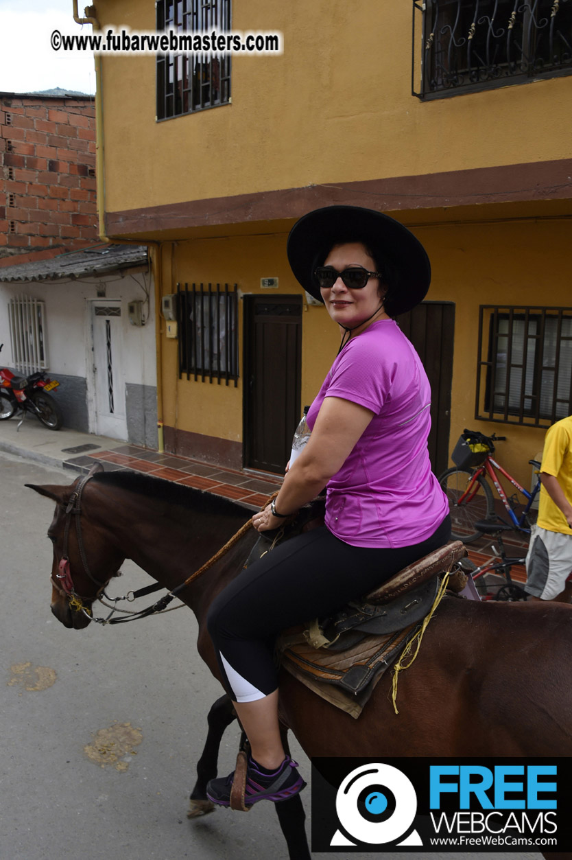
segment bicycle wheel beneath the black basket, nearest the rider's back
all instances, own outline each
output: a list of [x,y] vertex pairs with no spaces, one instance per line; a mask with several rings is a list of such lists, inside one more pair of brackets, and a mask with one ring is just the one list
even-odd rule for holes
[[463,544],[472,544],[473,541],[482,536],[482,531],[478,531],[475,523],[479,519],[490,519],[495,511],[492,490],[488,482],[480,476],[477,478],[475,487],[472,488],[469,501],[458,504],[460,497],[469,486],[471,478],[471,470],[458,469],[455,466],[453,469],[447,469],[443,472],[438,479],[449,500],[449,513],[451,513],[453,526],[451,537],[453,540],[462,541]]

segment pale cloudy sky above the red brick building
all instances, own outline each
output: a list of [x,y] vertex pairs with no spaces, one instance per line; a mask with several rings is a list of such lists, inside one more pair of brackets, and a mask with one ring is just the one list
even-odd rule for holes
[[[79,15],[88,0],[78,0]],[[72,0],[0,0],[0,92],[73,89],[95,92],[90,52],[54,51],[50,35],[91,33],[73,19]]]

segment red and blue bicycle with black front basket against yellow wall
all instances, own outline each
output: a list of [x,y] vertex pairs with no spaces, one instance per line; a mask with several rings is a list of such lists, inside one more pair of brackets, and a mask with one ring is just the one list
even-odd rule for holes
[[[532,492],[529,492],[492,457],[495,451],[494,443],[505,439],[506,436],[496,436],[495,433],[492,436],[485,436],[478,431],[464,430],[451,455],[456,465],[439,476],[438,481],[449,501],[453,540],[472,544],[484,534],[484,530],[478,527],[478,523],[490,521],[496,517],[495,500],[486,476],[489,476],[493,482],[508,513],[511,525],[506,523],[504,525],[508,525],[508,529],[530,534],[530,527],[536,519],[532,504],[539,493],[540,464],[538,460],[528,461],[538,474],[536,486]],[[519,517],[514,513],[514,509],[520,505],[517,496],[513,494],[507,497],[495,470],[507,478],[524,496],[526,504]],[[499,518],[499,522],[504,521]]]

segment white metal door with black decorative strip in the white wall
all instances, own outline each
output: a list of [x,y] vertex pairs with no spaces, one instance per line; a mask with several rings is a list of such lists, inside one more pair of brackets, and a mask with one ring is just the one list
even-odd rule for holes
[[122,320],[119,301],[92,305],[94,347],[94,430],[100,436],[127,439]]

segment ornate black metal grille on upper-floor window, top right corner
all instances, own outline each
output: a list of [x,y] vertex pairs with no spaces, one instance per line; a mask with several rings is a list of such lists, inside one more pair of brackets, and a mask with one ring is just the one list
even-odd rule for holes
[[413,0],[413,52],[420,98],[569,75],[572,0]]

